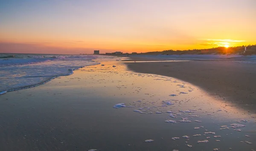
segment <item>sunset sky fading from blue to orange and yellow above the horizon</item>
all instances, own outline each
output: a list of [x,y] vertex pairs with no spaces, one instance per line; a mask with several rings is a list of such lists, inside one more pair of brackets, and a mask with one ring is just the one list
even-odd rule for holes
[[0,53],[256,44],[256,0],[0,0]]

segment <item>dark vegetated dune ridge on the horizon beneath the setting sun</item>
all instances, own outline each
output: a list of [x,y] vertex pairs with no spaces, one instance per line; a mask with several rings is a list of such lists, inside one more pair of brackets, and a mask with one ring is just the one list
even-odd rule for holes
[[[246,47],[246,51],[244,52]],[[193,50],[164,50],[147,53],[138,53],[138,55],[185,55],[185,54],[237,54],[237,55],[256,55],[256,45],[238,46],[238,47],[218,47],[210,49],[193,49]]]

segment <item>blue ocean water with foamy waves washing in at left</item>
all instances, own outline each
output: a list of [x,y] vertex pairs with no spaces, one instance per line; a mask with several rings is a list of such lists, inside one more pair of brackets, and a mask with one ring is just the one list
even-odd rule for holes
[[81,67],[99,64],[93,59],[112,56],[0,53],[0,95],[35,87]]

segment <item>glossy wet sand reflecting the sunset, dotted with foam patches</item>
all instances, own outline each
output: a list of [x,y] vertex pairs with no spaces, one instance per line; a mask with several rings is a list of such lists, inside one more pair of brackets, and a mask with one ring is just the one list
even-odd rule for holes
[[[5,145],[8,149],[27,144],[19,146],[22,150],[256,150],[256,115],[175,78],[134,73],[118,62],[102,64],[1,95],[9,106],[18,99],[11,108],[0,104],[4,121],[0,129],[8,130],[0,134],[0,145],[8,143],[12,146]],[[125,106],[113,108],[118,103]],[[22,119],[19,126],[13,126],[17,121],[13,113],[14,119]],[[233,123],[246,127],[232,128]]]

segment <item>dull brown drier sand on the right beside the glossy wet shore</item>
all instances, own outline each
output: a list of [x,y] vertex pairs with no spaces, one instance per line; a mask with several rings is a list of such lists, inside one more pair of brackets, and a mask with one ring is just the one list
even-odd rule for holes
[[[143,58],[136,58],[136,60]],[[145,58],[145,60],[149,60]],[[234,61],[127,63],[138,73],[170,76],[195,84],[224,101],[255,111],[256,63]]]

